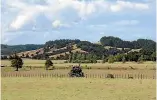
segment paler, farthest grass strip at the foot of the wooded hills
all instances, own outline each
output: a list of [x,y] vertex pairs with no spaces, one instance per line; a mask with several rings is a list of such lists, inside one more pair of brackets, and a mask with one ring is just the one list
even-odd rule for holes
[[[45,60],[32,60],[32,59],[24,59],[24,66],[32,66],[32,67],[44,67]],[[69,67],[72,65],[78,65],[77,63],[64,63],[65,60],[53,60],[54,66],[59,67]],[[100,61],[99,61],[100,62]],[[1,64],[5,66],[10,66],[9,60],[1,60]],[[91,68],[126,68],[130,69],[130,66],[137,69],[153,69],[155,68],[155,62],[144,62],[142,64],[138,64],[136,62],[126,62],[122,64],[122,62],[115,62],[113,64],[109,63],[96,63],[96,64],[81,64],[81,66],[88,66]]]

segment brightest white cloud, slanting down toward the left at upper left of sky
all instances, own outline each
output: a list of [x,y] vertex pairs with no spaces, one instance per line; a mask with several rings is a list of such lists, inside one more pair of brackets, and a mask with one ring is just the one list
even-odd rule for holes
[[16,30],[20,29],[30,20],[33,20],[33,18],[36,17],[37,14],[46,10],[46,8],[41,5],[30,6],[18,0],[12,3],[8,2],[8,5],[21,10],[17,17],[10,24],[10,27]]

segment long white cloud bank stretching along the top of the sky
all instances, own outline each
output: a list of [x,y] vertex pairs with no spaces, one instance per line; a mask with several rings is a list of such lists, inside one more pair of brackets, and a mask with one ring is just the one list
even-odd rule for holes
[[[77,1],[77,0],[46,0],[48,5],[29,5],[21,0],[7,0],[7,4],[10,7],[20,9],[20,13],[17,15],[14,21],[11,22],[10,26],[14,29],[20,29],[24,24],[31,21],[32,18],[40,13],[44,13],[50,17],[51,20],[56,20],[54,17],[58,13],[61,13],[65,8],[71,8],[77,11],[80,18],[85,19],[91,14],[96,14],[98,11],[112,11],[118,12],[126,9],[145,10],[149,9],[148,4],[144,3],[133,3],[129,1],[117,1],[116,3],[107,1]],[[64,16],[66,17],[66,16]]]

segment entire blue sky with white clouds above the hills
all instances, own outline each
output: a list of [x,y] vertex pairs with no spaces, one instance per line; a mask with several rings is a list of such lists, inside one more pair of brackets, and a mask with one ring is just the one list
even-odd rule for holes
[[156,0],[1,0],[1,43],[156,40]]

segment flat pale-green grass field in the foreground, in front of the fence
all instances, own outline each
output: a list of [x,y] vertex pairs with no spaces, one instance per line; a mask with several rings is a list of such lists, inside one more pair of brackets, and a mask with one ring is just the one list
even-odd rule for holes
[[156,100],[156,80],[2,78],[2,100]]

